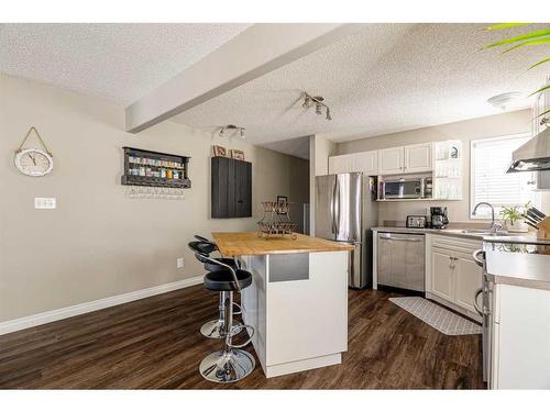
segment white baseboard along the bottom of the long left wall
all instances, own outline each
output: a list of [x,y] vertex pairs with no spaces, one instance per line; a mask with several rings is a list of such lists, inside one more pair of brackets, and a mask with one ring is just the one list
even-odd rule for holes
[[61,308],[48,312],[36,313],[25,318],[19,318],[11,321],[0,322],[0,335],[21,331],[28,327],[42,325],[44,323],[61,321],[62,319],[73,318],[82,313],[98,311],[100,309],[116,307],[117,304],[132,302],[155,294],[170,292],[173,290],[188,288],[190,286],[202,283],[202,276],[189,279],[178,280],[170,283],[154,286],[147,289],[141,289],[129,293],[117,294],[114,297],[92,300],[91,302],[78,303],[72,307]]

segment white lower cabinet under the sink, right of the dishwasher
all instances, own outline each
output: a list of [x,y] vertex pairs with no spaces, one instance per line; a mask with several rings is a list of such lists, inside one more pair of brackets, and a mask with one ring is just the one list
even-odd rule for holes
[[483,274],[472,253],[480,247],[481,243],[475,241],[433,236],[427,282],[427,292],[465,309],[465,314],[474,319],[477,319],[474,297],[482,286]]

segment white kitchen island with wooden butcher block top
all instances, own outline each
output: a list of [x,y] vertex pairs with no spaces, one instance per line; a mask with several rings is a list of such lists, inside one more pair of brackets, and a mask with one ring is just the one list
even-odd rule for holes
[[353,246],[298,234],[212,233],[224,257],[252,272],[242,316],[267,378],[340,364],[348,349],[348,266]]

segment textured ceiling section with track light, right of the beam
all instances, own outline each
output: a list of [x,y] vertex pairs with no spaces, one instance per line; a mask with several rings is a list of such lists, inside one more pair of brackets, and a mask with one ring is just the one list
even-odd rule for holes
[[[315,133],[346,141],[495,114],[490,97],[535,90],[548,65],[525,73],[541,47],[480,51],[526,31],[482,31],[487,25],[369,24],[173,120],[206,131],[238,124],[251,143],[266,144]],[[331,122],[301,108],[302,90],[324,97]]]

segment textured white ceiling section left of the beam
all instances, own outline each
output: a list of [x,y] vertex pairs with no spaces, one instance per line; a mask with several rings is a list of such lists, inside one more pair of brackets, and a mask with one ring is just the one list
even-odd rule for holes
[[2,24],[0,71],[130,104],[249,24]]

